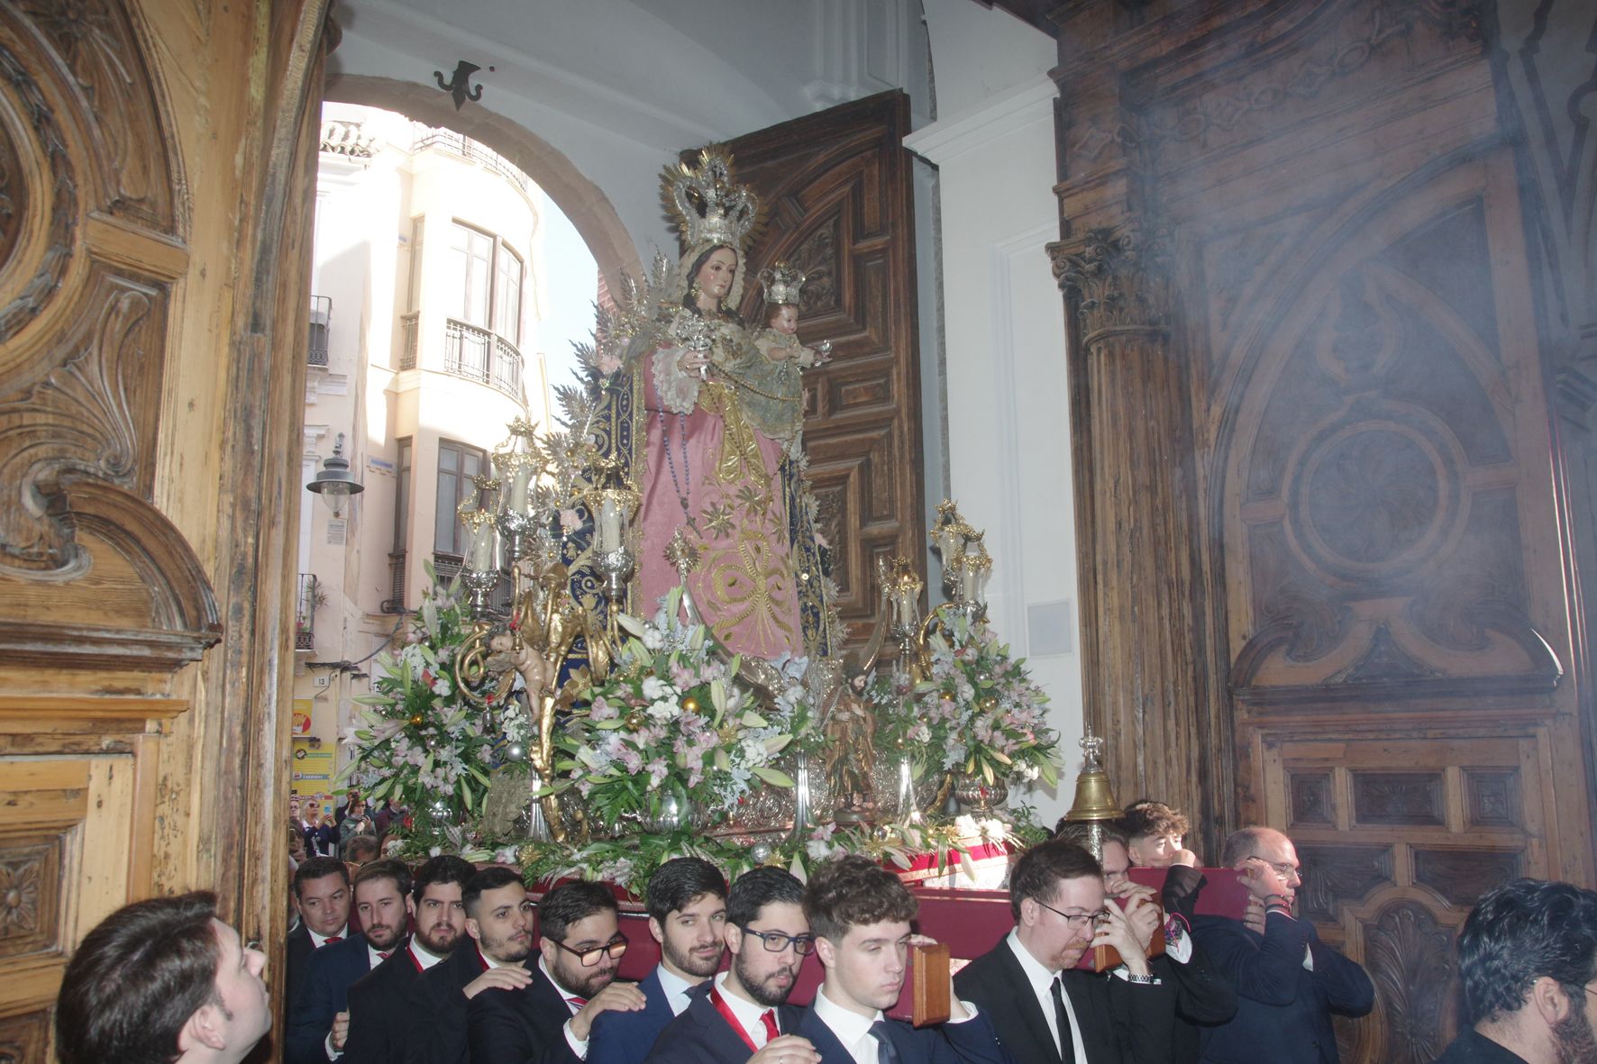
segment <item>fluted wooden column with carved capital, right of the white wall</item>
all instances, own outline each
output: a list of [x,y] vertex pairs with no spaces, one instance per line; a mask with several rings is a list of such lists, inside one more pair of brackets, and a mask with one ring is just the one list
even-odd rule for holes
[[[1203,749],[1191,396],[1171,351],[1167,240],[1135,220],[1049,244],[1070,310],[1072,454],[1086,719],[1123,802],[1230,805]],[[1204,853],[1204,856],[1212,856]]]

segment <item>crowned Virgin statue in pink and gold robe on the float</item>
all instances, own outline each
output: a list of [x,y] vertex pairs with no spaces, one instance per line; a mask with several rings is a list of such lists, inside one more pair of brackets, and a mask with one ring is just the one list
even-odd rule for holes
[[755,198],[715,149],[661,184],[684,252],[612,393],[610,446],[642,486],[637,605],[652,610],[679,582],[666,545],[680,530],[698,554],[688,593],[728,650],[824,655],[829,582],[802,479],[802,396],[773,383],[736,312]]

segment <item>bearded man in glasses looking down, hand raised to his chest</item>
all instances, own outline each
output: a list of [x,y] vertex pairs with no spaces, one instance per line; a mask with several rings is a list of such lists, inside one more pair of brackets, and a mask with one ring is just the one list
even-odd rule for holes
[[642,991],[615,981],[626,936],[604,883],[561,883],[543,896],[538,952],[529,986],[471,998],[471,1064],[575,1064],[588,1056],[594,1018],[644,1008]]

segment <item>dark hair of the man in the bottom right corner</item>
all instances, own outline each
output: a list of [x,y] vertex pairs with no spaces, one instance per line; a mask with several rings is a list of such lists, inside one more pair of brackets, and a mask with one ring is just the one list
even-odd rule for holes
[[1516,879],[1469,912],[1458,935],[1466,1024],[1519,1011],[1541,976],[1584,1008],[1584,987],[1597,978],[1597,891]]

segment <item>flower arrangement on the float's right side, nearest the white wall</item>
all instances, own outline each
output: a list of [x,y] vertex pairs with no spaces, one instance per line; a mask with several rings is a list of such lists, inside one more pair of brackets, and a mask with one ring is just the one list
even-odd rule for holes
[[902,751],[917,780],[963,773],[992,784],[1059,783],[1059,735],[1044,725],[1048,695],[1025,660],[1009,657],[985,621],[957,617],[952,631],[928,639],[925,679],[877,674],[867,698],[877,741]]

